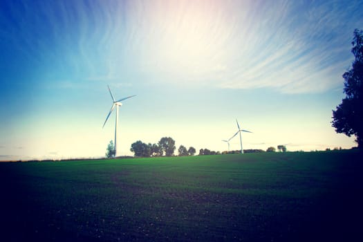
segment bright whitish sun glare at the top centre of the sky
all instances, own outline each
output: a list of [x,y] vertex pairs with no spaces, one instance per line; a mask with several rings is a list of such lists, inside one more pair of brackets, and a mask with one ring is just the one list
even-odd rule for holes
[[149,20],[154,27],[147,30],[145,59],[151,60],[153,71],[173,75],[170,82],[201,81],[225,69],[223,49],[229,35],[223,9],[212,3],[175,3],[159,6]]

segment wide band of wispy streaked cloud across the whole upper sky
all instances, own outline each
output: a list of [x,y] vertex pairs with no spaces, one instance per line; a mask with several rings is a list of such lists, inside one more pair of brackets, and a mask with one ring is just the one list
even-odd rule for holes
[[10,4],[8,15],[24,21],[3,28],[1,37],[46,66],[43,78],[77,82],[106,77],[324,92],[342,85],[352,32],[363,26],[362,1],[60,1],[17,7]]

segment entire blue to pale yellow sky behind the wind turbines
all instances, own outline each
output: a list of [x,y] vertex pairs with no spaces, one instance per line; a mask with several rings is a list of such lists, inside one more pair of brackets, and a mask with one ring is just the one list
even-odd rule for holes
[[[0,160],[355,147],[331,127],[363,1],[0,1]],[[240,149],[239,138],[230,149]]]

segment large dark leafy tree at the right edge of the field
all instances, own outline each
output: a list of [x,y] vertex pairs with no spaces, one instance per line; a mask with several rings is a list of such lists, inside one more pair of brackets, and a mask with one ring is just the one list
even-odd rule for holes
[[354,30],[352,67],[343,74],[346,97],[333,110],[332,126],[337,133],[355,136],[358,147],[363,147],[363,30]]

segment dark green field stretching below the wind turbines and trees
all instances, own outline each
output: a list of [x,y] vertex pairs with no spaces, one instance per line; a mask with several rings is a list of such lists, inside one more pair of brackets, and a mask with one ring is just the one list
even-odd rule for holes
[[1,241],[352,241],[357,151],[0,163]]

